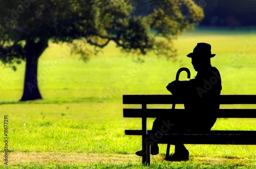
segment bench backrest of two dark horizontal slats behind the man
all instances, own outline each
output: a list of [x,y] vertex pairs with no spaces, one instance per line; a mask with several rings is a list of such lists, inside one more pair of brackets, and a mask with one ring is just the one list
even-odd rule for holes
[[[147,108],[148,104],[184,104],[173,95],[123,95],[123,104],[140,104],[141,108],[124,108],[123,117],[157,118],[166,113],[185,113],[184,109]],[[256,95],[221,95],[220,104],[256,104]],[[157,112],[157,113],[156,113]],[[256,109],[223,109],[220,108],[218,118],[256,118]]]

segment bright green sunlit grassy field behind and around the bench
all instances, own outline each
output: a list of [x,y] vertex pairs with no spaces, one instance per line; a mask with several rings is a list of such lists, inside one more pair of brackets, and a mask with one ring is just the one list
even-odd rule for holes
[[[0,119],[9,118],[9,167],[142,168],[141,158],[134,154],[141,149],[140,136],[124,135],[124,129],[139,129],[140,120],[122,117],[122,95],[169,94],[165,86],[180,67],[189,68],[194,77],[196,72],[185,55],[198,42],[210,43],[216,53],[211,61],[220,70],[222,94],[256,94],[256,32],[250,31],[187,32],[175,42],[175,63],[151,53],[144,57],[145,62],[136,63],[136,56],[121,53],[113,43],[84,63],[70,56],[67,45],[50,44],[39,59],[38,81],[44,99],[38,101],[18,102],[24,64],[15,72],[2,66]],[[185,80],[185,74],[180,79]],[[148,121],[151,128],[154,119]],[[255,122],[218,119],[212,129],[256,130]],[[0,146],[3,157],[3,142]],[[166,145],[160,145],[151,168],[256,167],[255,146],[186,147],[189,161],[168,162],[163,160]],[[0,167],[4,167],[1,161]]]

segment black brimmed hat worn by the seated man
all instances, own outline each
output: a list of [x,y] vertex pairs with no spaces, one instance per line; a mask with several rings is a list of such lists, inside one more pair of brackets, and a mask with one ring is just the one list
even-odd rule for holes
[[213,58],[216,54],[211,54],[211,46],[208,43],[198,43],[194,48],[193,53],[187,54],[188,58],[192,57],[210,57]]

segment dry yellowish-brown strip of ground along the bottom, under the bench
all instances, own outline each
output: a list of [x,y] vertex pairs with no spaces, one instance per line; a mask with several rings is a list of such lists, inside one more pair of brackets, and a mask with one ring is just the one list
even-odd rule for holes
[[[3,154],[3,153],[1,153]],[[103,154],[103,153],[63,153],[63,152],[10,152],[9,165],[24,163],[62,163],[62,164],[84,164],[84,163],[141,163],[141,157],[135,154]],[[151,161],[169,163],[164,160],[164,155],[151,156]],[[252,164],[256,166],[256,159],[230,159],[219,157],[190,157],[188,163],[212,164]]]

